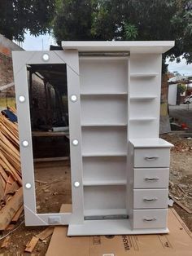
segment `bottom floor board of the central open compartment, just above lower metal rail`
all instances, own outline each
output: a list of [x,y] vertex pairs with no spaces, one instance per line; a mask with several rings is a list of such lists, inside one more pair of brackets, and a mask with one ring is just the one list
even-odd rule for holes
[[116,214],[126,215],[127,214],[127,210],[126,209],[84,210],[84,215],[85,216],[116,215]]

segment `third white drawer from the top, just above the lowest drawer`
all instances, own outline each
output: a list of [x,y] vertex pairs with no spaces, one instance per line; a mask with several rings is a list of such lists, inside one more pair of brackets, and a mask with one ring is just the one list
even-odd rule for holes
[[134,189],[133,209],[167,208],[167,189]]

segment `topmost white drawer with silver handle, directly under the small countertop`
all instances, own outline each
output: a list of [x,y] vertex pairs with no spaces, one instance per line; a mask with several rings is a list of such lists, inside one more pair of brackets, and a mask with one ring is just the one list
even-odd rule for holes
[[134,167],[168,167],[169,148],[136,148],[134,150]]

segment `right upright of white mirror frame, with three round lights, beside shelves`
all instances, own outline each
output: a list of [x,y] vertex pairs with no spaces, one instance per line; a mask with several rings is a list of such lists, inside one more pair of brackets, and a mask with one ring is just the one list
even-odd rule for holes
[[83,165],[81,139],[81,96],[78,51],[74,52],[78,73],[67,67],[68,113],[72,175],[72,219],[70,224],[84,222]]

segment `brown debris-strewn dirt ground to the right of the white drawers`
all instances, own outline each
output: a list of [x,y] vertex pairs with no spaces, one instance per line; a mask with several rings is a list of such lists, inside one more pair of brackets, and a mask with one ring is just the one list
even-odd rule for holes
[[[161,137],[175,145],[171,150],[169,192],[192,211],[192,135],[188,138],[177,134]],[[173,207],[192,232],[192,214],[187,213],[177,204]]]

